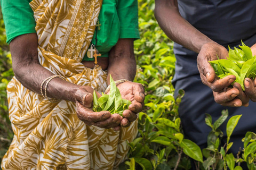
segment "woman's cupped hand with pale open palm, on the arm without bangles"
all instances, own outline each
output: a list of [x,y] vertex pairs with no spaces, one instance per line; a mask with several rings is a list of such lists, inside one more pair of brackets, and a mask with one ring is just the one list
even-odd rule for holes
[[123,112],[121,126],[128,127],[137,119],[137,113],[144,107],[145,90],[142,84],[135,82],[123,82],[117,85],[123,99],[130,100],[132,104]]

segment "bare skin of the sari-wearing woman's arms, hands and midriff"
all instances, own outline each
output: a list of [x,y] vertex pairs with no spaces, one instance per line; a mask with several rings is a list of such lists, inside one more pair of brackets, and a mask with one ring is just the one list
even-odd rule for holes
[[[44,69],[38,61],[37,35],[29,33],[13,39],[10,43],[13,72],[15,77],[27,89],[41,94],[41,83],[54,75]],[[136,73],[136,62],[133,54],[133,39],[119,39],[107,58],[98,58],[98,64],[103,70],[108,69],[114,80],[127,79],[132,81]],[[127,64],[129,63],[129,64]],[[86,67],[93,69],[94,62],[83,62]],[[33,73],[33,74],[31,74]],[[47,87],[47,96],[76,103],[77,116],[87,125],[100,128],[113,128],[118,131],[121,126],[127,127],[137,118],[142,110],[145,98],[144,88],[140,83],[124,82],[118,84],[123,98],[131,100],[129,109],[124,111],[123,117],[119,114],[111,115],[108,111],[93,112],[93,89],[90,86],[78,86],[60,78],[54,78]],[[97,92],[97,95],[101,95]]]

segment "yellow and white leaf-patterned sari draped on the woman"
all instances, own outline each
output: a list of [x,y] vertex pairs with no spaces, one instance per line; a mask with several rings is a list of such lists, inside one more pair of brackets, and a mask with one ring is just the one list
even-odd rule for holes
[[[91,43],[102,0],[34,0],[38,58],[69,82],[101,92],[107,73],[81,63]],[[108,35],[106,35],[108,36]],[[3,169],[117,169],[137,134],[137,122],[115,132],[87,126],[71,101],[50,103],[15,78],[7,87],[13,141]]]

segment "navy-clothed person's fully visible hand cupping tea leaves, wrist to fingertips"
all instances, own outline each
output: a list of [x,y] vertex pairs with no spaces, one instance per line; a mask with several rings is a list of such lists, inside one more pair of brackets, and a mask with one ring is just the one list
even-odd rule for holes
[[202,46],[197,56],[197,67],[202,82],[213,90],[216,103],[222,106],[240,107],[248,106],[249,98],[242,91],[239,83],[234,83],[233,88],[229,88],[236,80],[235,75],[228,75],[223,79],[218,79],[209,61],[227,59],[228,51],[225,47],[217,43],[206,43]]

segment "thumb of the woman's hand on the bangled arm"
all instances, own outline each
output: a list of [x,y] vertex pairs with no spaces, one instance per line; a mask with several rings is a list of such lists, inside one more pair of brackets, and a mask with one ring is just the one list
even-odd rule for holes
[[79,88],[76,91],[75,98],[86,108],[93,106],[93,95],[84,88]]

